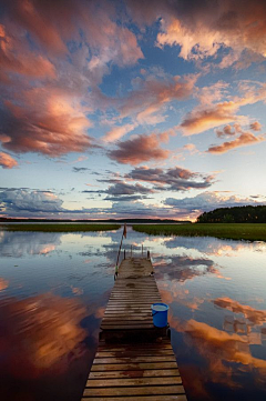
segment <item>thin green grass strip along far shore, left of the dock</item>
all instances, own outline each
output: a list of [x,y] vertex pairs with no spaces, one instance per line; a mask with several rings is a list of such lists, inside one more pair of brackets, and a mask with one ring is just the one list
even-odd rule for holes
[[41,232],[84,232],[84,231],[110,231],[120,229],[120,224],[75,224],[75,223],[21,223],[0,224],[1,229],[8,231],[41,231]]

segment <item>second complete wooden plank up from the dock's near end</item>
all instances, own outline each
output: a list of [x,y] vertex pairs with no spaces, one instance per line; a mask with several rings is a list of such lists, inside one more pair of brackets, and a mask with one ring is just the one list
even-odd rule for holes
[[89,379],[86,388],[105,387],[137,387],[137,385],[167,385],[181,384],[180,377],[163,378],[133,378],[133,379]]

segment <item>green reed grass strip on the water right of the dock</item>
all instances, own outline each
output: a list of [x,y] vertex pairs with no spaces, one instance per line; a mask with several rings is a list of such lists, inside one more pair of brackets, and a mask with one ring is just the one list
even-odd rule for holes
[[266,241],[266,224],[264,223],[134,224],[133,230],[151,235],[216,237]]

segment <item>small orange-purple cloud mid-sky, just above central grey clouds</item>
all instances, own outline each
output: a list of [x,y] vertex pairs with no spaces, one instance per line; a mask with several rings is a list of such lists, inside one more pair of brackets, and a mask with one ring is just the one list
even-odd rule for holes
[[160,137],[155,133],[137,136],[124,142],[117,142],[117,149],[109,151],[109,157],[123,164],[140,164],[144,161],[164,160],[168,150],[160,148]]

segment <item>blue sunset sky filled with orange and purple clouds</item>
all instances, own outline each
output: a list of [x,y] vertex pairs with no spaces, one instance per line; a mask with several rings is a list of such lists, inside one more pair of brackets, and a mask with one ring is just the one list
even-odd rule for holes
[[266,2],[1,0],[0,215],[266,204]]

